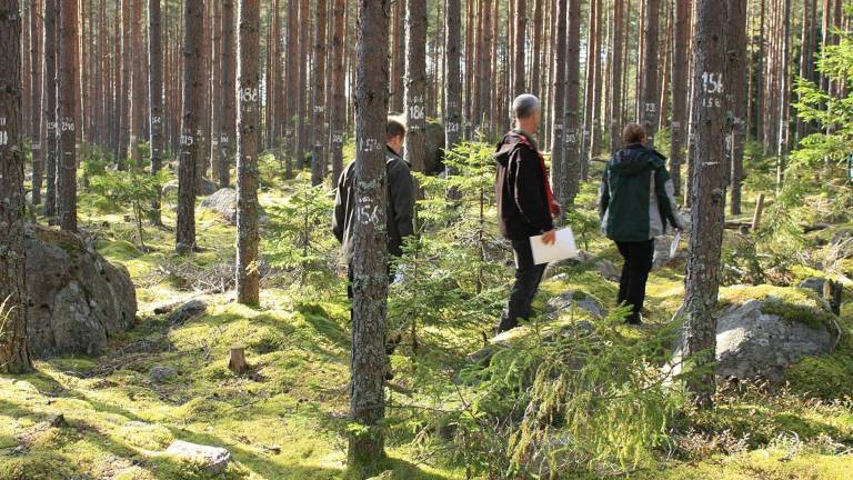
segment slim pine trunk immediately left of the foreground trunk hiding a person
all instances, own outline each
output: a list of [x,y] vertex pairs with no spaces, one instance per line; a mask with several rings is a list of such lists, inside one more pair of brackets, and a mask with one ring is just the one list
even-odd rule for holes
[[343,136],[347,117],[347,99],[344,97],[344,38],[347,20],[347,1],[334,0],[334,29],[332,34],[332,104],[329,124],[332,160],[332,182],[337,182],[343,171]]

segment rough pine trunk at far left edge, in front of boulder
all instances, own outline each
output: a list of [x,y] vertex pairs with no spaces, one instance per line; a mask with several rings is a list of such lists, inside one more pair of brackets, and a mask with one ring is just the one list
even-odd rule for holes
[[18,8],[18,0],[0,0],[0,373],[32,370],[27,339],[24,126]]

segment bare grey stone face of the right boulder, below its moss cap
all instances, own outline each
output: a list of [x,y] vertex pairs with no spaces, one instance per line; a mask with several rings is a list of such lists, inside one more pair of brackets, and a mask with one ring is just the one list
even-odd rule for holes
[[[762,311],[765,300],[749,300],[721,312],[716,323],[716,377],[781,381],[785,369],[803,357],[829,354],[833,334],[825,327]],[[681,347],[670,371],[680,371]]]

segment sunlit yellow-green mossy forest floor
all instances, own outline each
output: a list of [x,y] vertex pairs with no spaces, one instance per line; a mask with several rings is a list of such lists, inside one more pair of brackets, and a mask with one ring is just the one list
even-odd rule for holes
[[[281,204],[294,184],[268,184],[261,203],[268,209]],[[199,291],[180,274],[198,271],[213,278],[217,266],[232,261],[234,228],[217,214],[198,210],[202,251],[180,258],[172,253],[169,231],[147,228],[149,251],[142,252],[124,212],[102,213],[86,202],[81,209],[83,228],[101,233],[98,250],[129,269],[139,321],[112,339],[101,357],[41,360],[36,373],[0,377],[0,479],[342,478],[350,350],[344,279],[322,289],[264,284],[259,308],[238,306],[231,292]],[[164,220],[173,224],[168,209]],[[590,250],[618,262],[615,249],[599,237]],[[632,334],[642,339],[670,320],[683,294],[681,270],[683,264],[652,274],[649,327]],[[612,307],[616,286],[590,271],[566,270],[545,282],[540,302],[569,289],[583,289]],[[179,326],[153,313],[159,306],[189,299],[204,300],[207,313]],[[849,303],[844,312],[853,317]],[[480,332],[469,336],[476,339]],[[251,371],[243,377],[227,368],[234,344],[247,347]],[[464,360],[459,350],[435,354]],[[393,361],[398,388],[390,402],[403,406],[411,372],[398,367],[404,359]],[[154,381],[149,374],[153,367],[178,373]],[[414,426],[390,411],[394,478],[465,478],[464,466],[419,454],[412,447]],[[49,427],[57,413],[64,416],[67,428]],[[632,477],[853,478],[850,402],[755,390],[732,394],[700,418],[703,428],[684,440],[693,446],[690,458],[661,451],[654,468]],[[175,439],[225,447],[234,461],[224,474],[211,477],[158,453]]]

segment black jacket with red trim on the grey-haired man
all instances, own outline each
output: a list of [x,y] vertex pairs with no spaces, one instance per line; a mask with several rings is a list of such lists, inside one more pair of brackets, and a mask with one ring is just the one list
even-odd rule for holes
[[554,229],[559,211],[551,194],[548,170],[535,142],[521,130],[511,130],[494,154],[498,173],[498,227],[510,240],[524,240]]

